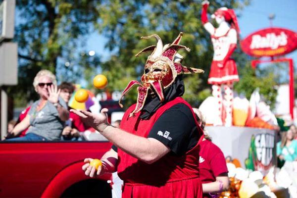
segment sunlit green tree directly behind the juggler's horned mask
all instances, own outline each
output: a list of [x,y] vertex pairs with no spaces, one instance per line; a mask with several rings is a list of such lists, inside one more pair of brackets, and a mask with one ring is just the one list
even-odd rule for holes
[[[209,12],[213,13],[222,6],[241,8],[246,4],[247,1],[244,0],[211,1]],[[106,71],[108,79],[117,81],[115,89],[123,90],[128,79],[139,79],[143,74],[147,56],[135,58],[133,55],[145,47],[155,45],[155,40],[140,40],[141,36],[158,34],[166,44],[171,43],[179,32],[184,32],[181,44],[189,47],[191,52],[180,51],[185,57],[183,64],[205,70],[204,74],[189,75],[185,78],[184,98],[192,105],[198,106],[210,95],[210,86],[206,82],[213,50],[210,37],[200,21],[201,1],[106,0],[99,6],[99,10],[101,19],[95,28],[108,38],[108,49],[118,50],[113,58],[102,64],[102,70]],[[124,69],[121,71],[119,67]],[[114,76],[122,78],[110,79]],[[128,102],[133,99],[132,96],[127,98]]]

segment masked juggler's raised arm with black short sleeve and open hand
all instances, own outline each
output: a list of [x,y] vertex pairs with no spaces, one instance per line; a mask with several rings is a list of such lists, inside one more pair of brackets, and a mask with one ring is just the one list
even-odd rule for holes
[[[154,122],[146,138],[103,124],[106,117],[102,111],[98,117],[86,111],[78,113],[82,113],[83,121],[93,117],[93,120],[89,119],[88,125],[98,130],[115,147],[146,163],[153,163],[170,151],[176,155],[183,155],[197,145],[199,133],[195,119],[191,109],[185,104],[176,104],[167,109]],[[102,116],[101,121],[100,116]]]

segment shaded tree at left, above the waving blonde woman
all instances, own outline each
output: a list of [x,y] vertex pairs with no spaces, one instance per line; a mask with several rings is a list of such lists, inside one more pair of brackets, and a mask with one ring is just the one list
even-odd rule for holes
[[74,81],[99,65],[98,56],[90,58],[76,50],[84,45],[81,41],[98,19],[97,4],[88,0],[16,0],[18,85],[8,91],[17,106],[37,98],[32,83],[41,69],[56,73],[60,81]]

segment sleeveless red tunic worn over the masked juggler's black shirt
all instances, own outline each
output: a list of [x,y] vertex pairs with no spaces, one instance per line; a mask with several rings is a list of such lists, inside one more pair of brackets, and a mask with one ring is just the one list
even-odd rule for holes
[[[133,111],[135,108],[135,104],[132,105],[124,114],[123,119],[121,121],[121,129],[141,136],[141,137],[148,137],[148,134],[153,126],[153,124],[156,122],[156,120],[170,107],[177,103],[184,103],[186,104],[192,111],[193,116],[195,118],[195,114],[192,110],[192,107],[189,103],[187,103],[184,99],[178,97],[172,101],[167,102],[163,106],[161,106],[151,117],[149,120],[142,120],[139,118],[140,112],[136,113],[134,116],[129,118],[129,114]],[[196,119],[195,119],[196,120]],[[196,121],[197,124],[197,121]],[[197,124],[198,126],[198,124]],[[200,134],[200,140],[198,141],[198,144],[203,139],[202,137],[202,130],[198,126],[198,131]],[[199,177],[199,169],[198,169],[198,162],[199,162],[199,146],[198,144],[189,150],[185,155],[182,156],[176,156],[173,155],[171,152],[167,153],[165,156],[157,160],[156,162],[152,164],[147,164],[135,157],[132,157],[131,155],[127,154],[126,152],[122,151],[120,148],[118,148],[118,175],[119,177],[124,180],[125,188],[126,185],[128,186],[149,186],[149,188],[157,188],[165,187],[168,185],[168,183],[175,183],[178,188],[180,188],[179,181],[185,184],[182,185],[183,190],[186,190],[187,196],[189,196],[188,192],[190,189],[187,190],[187,184],[190,184],[190,181],[187,180],[195,180],[195,184],[191,184],[190,188],[192,189],[193,194],[197,194],[197,191],[201,191],[200,188],[200,180]],[[198,186],[197,186],[198,185]],[[200,188],[200,189],[196,189]],[[143,197],[143,195],[139,194],[140,192],[144,191],[142,187],[141,191],[137,191],[136,197]],[[174,191],[174,187],[170,185],[170,189],[167,191]],[[173,190],[172,190],[173,188]],[[147,189],[147,188],[145,188]],[[151,191],[152,189],[150,189]],[[182,190],[182,191],[183,191]],[[194,190],[194,191],[193,191]],[[124,190],[125,191],[125,190]],[[163,189],[162,191],[166,191],[166,189]],[[181,190],[179,190],[180,192]],[[133,192],[133,193],[132,193]],[[158,197],[172,197],[172,196],[166,196],[162,195],[160,196],[160,192],[158,192]],[[164,193],[163,192],[163,193]],[[131,193],[135,197],[135,190]],[[124,195],[124,194],[123,194]],[[176,197],[177,194],[174,195]],[[150,194],[150,196],[154,196]],[[180,195],[183,197],[183,195]],[[130,197],[130,196],[128,196]],[[147,197],[147,196],[145,196]],[[193,197],[190,195],[190,197]],[[194,196],[196,197],[196,196]]]

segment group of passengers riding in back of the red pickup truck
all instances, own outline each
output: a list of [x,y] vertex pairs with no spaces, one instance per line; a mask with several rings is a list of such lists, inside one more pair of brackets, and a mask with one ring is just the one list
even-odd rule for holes
[[[40,99],[26,107],[17,121],[8,122],[6,141],[82,141],[86,140],[85,131],[94,131],[69,111],[67,104],[75,91],[72,83],[57,86],[55,76],[41,70],[33,86]],[[115,127],[119,124],[120,120],[113,123]]]

